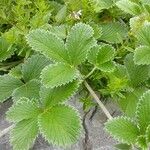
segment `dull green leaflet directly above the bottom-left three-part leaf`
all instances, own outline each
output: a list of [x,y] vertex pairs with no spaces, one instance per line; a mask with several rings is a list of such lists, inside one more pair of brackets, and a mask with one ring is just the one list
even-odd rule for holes
[[12,94],[13,100],[18,101],[21,97],[39,99],[39,91],[40,82],[38,80],[31,80],[14,90]]

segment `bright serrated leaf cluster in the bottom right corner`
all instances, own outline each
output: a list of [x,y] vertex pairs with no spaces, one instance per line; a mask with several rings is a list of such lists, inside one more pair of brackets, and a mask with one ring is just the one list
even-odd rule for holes
[[[139,97],[137,98],[139,99]],[[149,147],[149,111],[150,91],[145,92],[139,99],[133,119],[117,117],[105,124],[106,130],[117,140],[126,144],[133,144],[142,149]],[[132,99],[130,99],[132,100]]]

